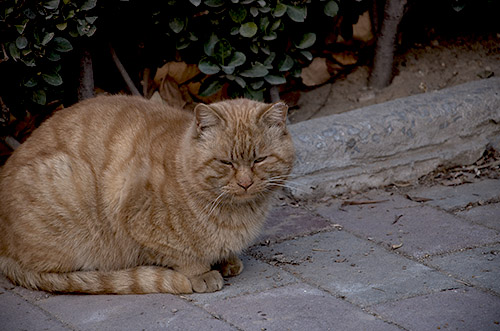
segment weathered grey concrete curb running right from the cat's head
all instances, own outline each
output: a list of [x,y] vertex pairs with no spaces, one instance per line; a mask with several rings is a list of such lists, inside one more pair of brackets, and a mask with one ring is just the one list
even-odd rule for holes
[[[326,106],[328,107],[328,105]],[[411,181],[500,146],[500,78],[474,81],[290,126],[296,197]]]

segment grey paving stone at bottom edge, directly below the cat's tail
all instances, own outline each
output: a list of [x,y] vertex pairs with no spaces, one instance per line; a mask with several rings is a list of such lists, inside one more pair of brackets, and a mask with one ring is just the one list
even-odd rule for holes
[[234,330],[170,294],[59,295],[38,304],[79,330]]

